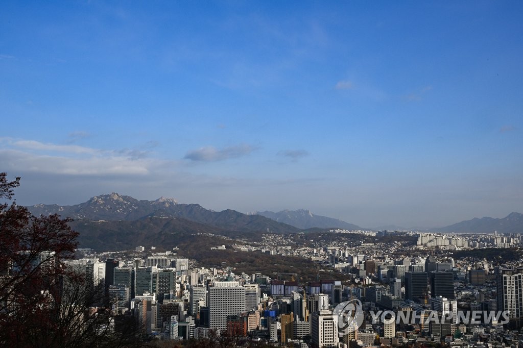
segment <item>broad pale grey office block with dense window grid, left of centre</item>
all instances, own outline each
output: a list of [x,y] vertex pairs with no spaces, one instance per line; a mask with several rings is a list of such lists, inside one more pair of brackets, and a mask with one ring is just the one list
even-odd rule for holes
[[225,330],[227,316],[245,312],[245,288],[238,282],[215,282],[209,288],[210,328]]

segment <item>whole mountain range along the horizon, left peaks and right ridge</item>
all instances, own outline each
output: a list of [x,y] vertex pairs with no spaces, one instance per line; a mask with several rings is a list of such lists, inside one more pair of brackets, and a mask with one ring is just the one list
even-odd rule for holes
[[[215,212],[199,204],[180,204],[174,199],[159,198],[155,201],[137,200],[131,196],[118,193],[94,196],[87,202],[76,205],[60,206],[56,204],[37,204],[28,207],[35,215],[60,214],[81,221],[138,221],[146,218],[178,219],[170,225],[180,226],[186,231],[204,231],[224,236],[241,235],[243,233],[267,232],[277,234],[300,233],[321,228],[342,228],[360,230],[357,225],[339,219],[314,215],[309,210],[278,213],[264,211],[251,214],[228,209]],[[181,220],[183,219],[183,220]],[[473,218],[441,228],[431,228],[438,233],[519,233],[523,232],[523,215],[511,213],[504,218]]]

